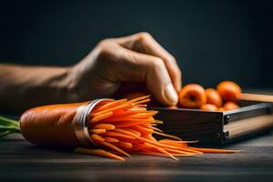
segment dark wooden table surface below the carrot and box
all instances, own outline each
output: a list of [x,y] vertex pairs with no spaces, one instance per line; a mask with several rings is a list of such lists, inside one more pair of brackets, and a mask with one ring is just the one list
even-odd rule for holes
[[0,180],[5,181],[273,181],[273,133],[227,148],[238,154],[133,156],[126,162],[35,147],[17,134],[0,139]]

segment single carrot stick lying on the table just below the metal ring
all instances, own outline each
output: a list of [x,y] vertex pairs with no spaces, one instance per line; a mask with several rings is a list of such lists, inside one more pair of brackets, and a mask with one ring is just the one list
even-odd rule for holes
[[90,154],[98,157],[107,157],[107,158],[114,158],[116,160],[122,160],[125,161],[123,157],[116,156],[115,154],[112,154],[110,152],[106,152],[105,150],[102,149],[87,149],[83,147],[76,147],[74,150],[76,153],[80,154]]

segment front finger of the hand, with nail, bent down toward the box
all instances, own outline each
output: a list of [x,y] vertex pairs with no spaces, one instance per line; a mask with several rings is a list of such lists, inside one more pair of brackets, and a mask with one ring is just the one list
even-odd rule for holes
[[116,76],[122,81],[146,83],[147,89],[166,106],[177,105],[178,96],[163,60],[121,47],[116,52]]

